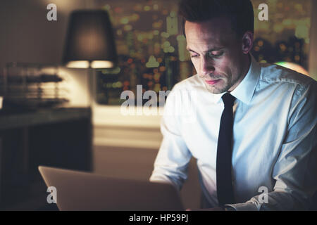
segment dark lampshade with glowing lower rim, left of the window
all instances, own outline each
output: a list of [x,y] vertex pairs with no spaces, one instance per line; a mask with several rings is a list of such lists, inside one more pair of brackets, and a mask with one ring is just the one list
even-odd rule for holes
[[63,64],[71,68],[113,68],[116,43],[108,13],[103,10],[70,14]]

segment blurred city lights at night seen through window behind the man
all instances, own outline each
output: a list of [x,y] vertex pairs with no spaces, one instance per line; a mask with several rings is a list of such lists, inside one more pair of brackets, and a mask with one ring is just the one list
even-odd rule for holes
[[[255,42],[253,56],[260,63],[281,61],[307,70],[309,0],[253,0]],[[268,21],[259,21],[260,4],[268,4]],[[115,30],[118,67],[97,70],[97,102],[120,105],[125,90],[166,91],[196,72],[186,50],[178,18],[178,1],[133,1],[100,4]],[[146,100],[147,101],[147,100]]]

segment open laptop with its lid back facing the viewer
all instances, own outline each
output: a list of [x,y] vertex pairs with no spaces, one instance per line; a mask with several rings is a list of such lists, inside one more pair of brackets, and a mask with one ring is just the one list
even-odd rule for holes
[[[55,191],[51,196],[56,194],[58,210],[185,210],[180,193],[172,184],[117,179],[44,166],[39,166],[39,172],[46,186],[51,187],[48,190]],[[48,196],[48,199],[51,196]]]

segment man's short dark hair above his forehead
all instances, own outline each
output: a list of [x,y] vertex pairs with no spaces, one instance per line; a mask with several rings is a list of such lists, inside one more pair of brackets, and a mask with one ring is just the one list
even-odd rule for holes
[[185,22],[204,22],[213,18],[229,18],[237,37],[254,32],[254,11],[250,0],[181,0],[178,14],[182,18],[182,32]]

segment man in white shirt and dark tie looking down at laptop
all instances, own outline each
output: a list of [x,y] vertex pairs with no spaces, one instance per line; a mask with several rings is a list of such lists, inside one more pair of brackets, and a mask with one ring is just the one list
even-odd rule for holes
[[[168,96],[150,181],[181,188],[193,156],[204,207],[307,210],[317,187],[316,81],[256,63],[249,0],[185,0],[180,15],[197,75]],[[195,120],[173,114],[186,108]]]

